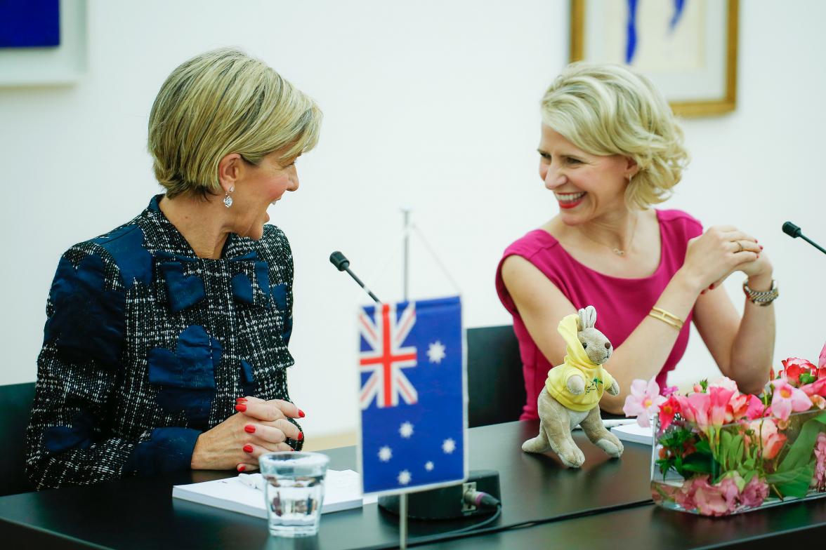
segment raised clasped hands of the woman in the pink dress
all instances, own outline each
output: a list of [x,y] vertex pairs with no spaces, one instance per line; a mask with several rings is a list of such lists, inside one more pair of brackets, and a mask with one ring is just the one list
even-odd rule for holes
[[756,238],[738,228],[714,226],[688,242],[681,270],[700,293],[723,284],[734,271],[742,271],[749,279],[771,277],[771,262],[762,249]]

